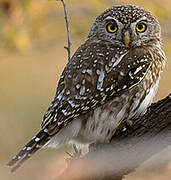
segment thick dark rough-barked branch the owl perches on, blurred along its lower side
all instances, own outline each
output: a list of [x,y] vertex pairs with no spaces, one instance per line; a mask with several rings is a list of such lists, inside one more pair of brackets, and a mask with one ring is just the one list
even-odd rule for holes
[[171,94],[152,104],[132,127],[123,126],[109,144],[93,145],[83,158],[72,160],[59,179],[122,180],[171,145]]

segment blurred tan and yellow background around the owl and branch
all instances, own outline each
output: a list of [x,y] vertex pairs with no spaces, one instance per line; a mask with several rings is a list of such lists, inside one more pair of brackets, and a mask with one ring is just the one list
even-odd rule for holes
[[[66,0],[72,53],[84,41],[95,17],[115,4],[146,8],[159,18],[167,65],[155,101],[171,92],[170,0]],[[63,6],[55,0],[0,0],[0,179],[54,180],[65,166],[66,149],[38,152],[16,173],[5,164],[39,131],[65,64]],[[171,148],[151,158],[128,180],[170,180]],[[170,162],[170,163],[169,163]],[[153,164],[153,168],[151,167]],[[155,165],[154,165],[155,164]]]

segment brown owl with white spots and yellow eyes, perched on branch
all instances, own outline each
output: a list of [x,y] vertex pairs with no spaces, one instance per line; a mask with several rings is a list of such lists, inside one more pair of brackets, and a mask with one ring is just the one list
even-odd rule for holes
[[43,147],[109,142],[121,123],[146,112],[165,59],[150,12],[132,5],[104,11],[64,68],[41,130],[8,163],[12,171]]

